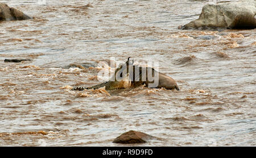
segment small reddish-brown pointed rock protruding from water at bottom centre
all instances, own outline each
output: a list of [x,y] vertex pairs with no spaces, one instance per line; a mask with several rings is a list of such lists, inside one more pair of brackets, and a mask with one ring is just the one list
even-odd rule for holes
[[128,131],[114,139],[113,143],[134,144],[134,143],[147,143],[148,139],[154,136],[144,134],[143,132]]

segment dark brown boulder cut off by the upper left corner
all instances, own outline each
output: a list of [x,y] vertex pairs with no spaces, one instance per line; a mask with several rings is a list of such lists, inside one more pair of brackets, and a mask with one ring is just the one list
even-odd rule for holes
[[31,17],[13,7],[9,7],[5,3],[0,3],[0,22],[4,20],[10,21],[26,19],[31,19]]

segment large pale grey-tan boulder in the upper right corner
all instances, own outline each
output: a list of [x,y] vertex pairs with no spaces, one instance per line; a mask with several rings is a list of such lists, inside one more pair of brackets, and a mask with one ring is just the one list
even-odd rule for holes
[[256,1],[205,5],[198,19],[189,22],[181,29],[207,28],[256,28]]

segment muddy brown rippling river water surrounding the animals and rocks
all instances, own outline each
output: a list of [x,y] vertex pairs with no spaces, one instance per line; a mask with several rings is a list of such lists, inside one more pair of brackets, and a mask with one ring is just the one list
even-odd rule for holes
[[[2,2],[33,19],[0,23],[1,146],[120,146],[129,130],[158,138],[140,146],[256,145],[256,30],[177,29],[209,2]],[[180,90],[70,90],[129,56]]]

